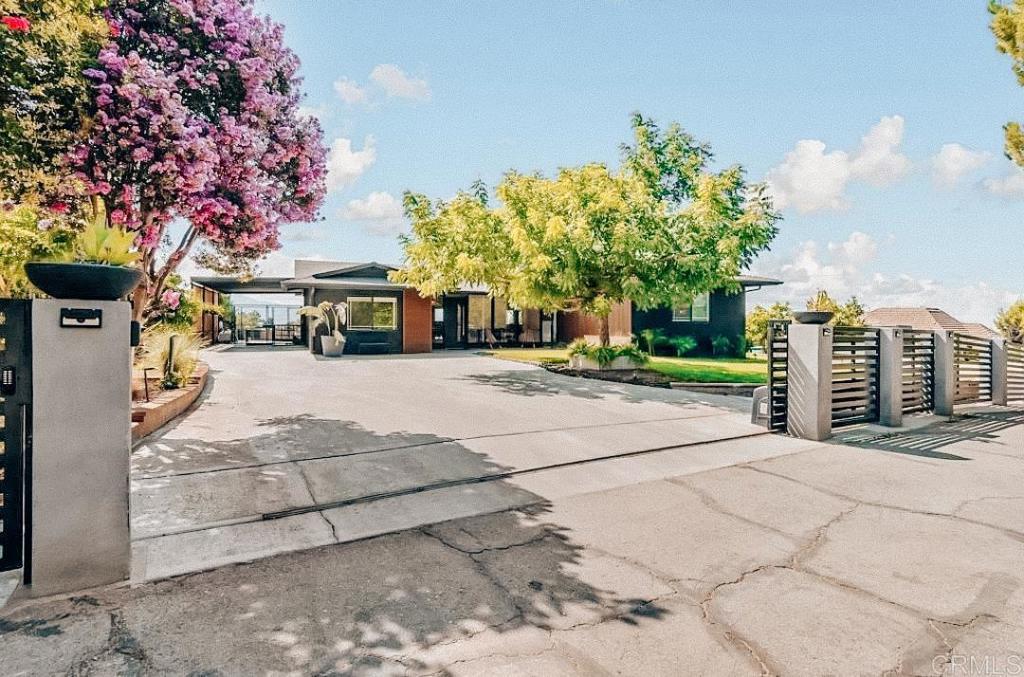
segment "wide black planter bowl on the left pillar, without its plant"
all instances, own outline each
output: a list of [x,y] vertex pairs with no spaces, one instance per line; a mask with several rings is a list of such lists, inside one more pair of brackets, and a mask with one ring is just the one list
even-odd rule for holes
[[102,263],[25,264],[29,282],[53,298],[80,298],[90,301],[116,301],[131,293],[142,282],[142,271]]

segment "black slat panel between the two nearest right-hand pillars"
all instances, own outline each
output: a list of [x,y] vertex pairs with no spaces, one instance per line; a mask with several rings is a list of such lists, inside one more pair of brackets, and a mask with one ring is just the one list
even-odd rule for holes
[[879,420],[880,333],[836,327],[833,334],[833,424]]

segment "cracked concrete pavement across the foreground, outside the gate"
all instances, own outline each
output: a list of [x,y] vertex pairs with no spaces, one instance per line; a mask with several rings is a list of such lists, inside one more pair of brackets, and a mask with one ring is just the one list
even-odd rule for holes
[[[848,429],[775,458],[8,608],[0,671],[1019,674],[1022,423],[989,409]],[[751,443],[774,440],[787,441]]]

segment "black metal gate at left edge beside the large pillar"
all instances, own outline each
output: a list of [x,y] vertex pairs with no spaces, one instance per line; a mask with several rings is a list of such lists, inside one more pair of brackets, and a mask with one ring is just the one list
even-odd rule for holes
[[26,488],[32,404],[30,302],[0,299],[0,572],[28,567]]

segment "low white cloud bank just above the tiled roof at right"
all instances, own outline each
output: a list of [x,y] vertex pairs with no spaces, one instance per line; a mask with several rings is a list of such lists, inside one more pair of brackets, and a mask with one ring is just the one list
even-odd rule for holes
[[819,289],[845,301],[856,296],[868,309],[885,306],[938,307],[964,322],[991,326],[999,308],[1010,305],[1020,292],[996,289],[982,282],[950,285],[930,278],[871,270],[879,243],[855,231],[840,243],[822,248],[814,241],[801,243],[786,259],[766,256],[758,272],[784,281],[780,287],[766,287],[752,296],[750,303],[788,301],[802,308]]

